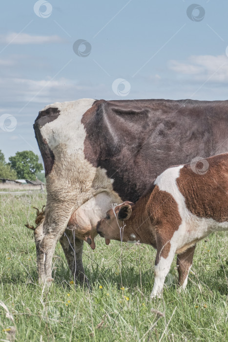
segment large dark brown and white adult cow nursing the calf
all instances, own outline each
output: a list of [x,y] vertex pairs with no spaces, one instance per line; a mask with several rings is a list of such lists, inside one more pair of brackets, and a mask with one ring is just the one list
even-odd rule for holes
[[34,231],[39,282],[53,280],[59,239],[72,274],[84,281],[80,229],[66,227],[86,202],[99,194],[96,219],[83,227],[96,232],[110,203],[135,203],[171,165],[228,151],[227,128],[228,101],[81,99],[44,107],[34,124],[47,190]]

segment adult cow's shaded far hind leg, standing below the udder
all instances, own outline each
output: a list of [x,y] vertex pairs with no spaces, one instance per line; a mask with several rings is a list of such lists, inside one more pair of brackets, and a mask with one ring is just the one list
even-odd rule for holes
[[81,284],[85,282],[88,285],[83,268],[83,240],[78,239],[74,231],[66,229],[60,243],[74,281],[79,280]]

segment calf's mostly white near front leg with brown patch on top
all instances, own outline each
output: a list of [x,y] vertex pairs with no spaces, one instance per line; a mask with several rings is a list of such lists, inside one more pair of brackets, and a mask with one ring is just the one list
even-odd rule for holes
[[154,286],[150,298],[161,298],[161,293],[169,272],[176,248],[170,239],[157,235],[157,255],[154,267]]

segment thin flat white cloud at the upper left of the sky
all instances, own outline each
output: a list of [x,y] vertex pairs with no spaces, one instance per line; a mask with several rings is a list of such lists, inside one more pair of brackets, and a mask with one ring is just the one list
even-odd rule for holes
[[45,43],[64,43],[65,41],[57,36],[32,36],[27,33],[8,33],[0,34],[0,43],[4,44],[45,44]]

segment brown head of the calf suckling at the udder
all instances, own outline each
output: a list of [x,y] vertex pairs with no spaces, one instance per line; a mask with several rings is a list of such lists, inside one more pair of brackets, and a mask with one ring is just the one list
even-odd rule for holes
[[134,234],[130,221],[126,224],[132,214],[132,202],[124,202],[113,209],[110,209],[104,217],[97,224],[97,232],[105,238],[106,245],[110,240],[118,240],[124,242],[134,241],[136,235]]

